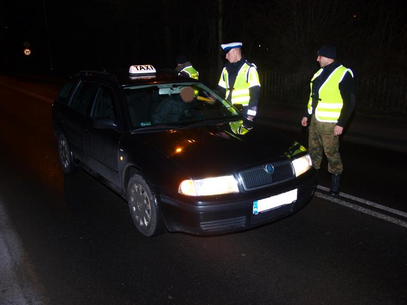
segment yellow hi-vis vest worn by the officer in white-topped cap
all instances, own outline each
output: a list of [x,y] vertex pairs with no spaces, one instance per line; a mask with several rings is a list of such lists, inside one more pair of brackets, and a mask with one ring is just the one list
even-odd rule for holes
[[[231,103],[242,104],[243,106],[249,105],[249,88],[259,85],[260,80],[258,79],[256,66],[254,64],[249,64],[248,62],[244,63],[236,76],[234,88],[232,89]],[[230,92],[226,68],[223,68],[222,74],[220,75],[219,86],[226,89],[224,97],[226,99]]]

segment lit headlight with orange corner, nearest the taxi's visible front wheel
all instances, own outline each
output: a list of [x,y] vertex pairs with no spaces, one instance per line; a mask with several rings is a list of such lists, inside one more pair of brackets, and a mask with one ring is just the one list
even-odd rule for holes
[[184,180],[181,182],[178,192],[188,196],[209,196],[239,193],[239,188],[235,177],[230,175],[199,180]]

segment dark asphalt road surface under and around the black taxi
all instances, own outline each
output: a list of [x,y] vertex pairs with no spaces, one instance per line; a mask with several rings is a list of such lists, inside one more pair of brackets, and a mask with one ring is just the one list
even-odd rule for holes
[[310,203],[275,223],[148,238],[122,198],[63,174],[42,98],[57,88],[0,83],[1,304],[407,303],[405,154],[342,143],[336,202],[320,171]]

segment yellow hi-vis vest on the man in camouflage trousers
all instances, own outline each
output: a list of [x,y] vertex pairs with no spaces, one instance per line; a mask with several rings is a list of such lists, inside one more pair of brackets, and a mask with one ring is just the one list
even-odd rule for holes
[[[312,81],[322,73],[323,69],[319,69],[311,79],[311,94],[308,101],[308,113],[312,114]],[[339,91],[339,83],[347,72],[350,72],[353,77],[351,69],[347,69],[340,65],[331,75],[328,76],[326,81],[319,87],[318,105],[315,109],[315,117],[320,122],[337,123],[342,110],[343,100]]]

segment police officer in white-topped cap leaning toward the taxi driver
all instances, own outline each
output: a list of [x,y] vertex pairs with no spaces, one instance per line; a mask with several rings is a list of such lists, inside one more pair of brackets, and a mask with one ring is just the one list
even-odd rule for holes
[[223,67],[217,90],[238,108],[241,105],[243,115],[253,120],[260,97],[257,68],[245,60],[241,42],[222,44],[221,47],[226,52],[228,63]]

